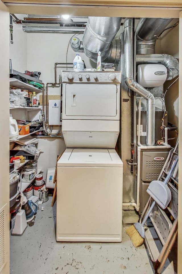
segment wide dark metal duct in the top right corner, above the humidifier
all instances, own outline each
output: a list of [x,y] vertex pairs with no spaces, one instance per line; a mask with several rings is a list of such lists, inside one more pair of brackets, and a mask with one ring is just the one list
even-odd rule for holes
[[141,18],[135,29],[137,54],[155,53],[156,40],[173,18]]

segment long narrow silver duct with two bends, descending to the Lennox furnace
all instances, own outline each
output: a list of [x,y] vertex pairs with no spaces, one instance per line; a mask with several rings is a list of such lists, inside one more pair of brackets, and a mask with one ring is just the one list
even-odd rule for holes
[[[155,98],[152,93],[140,86],[133,76],[133,19],[127,18],[124,22],[125,37],[125,83],[147,101],[146,117],[146,144],[154,146],[155,132]],[[138,129],[139,130],[139,129]]]

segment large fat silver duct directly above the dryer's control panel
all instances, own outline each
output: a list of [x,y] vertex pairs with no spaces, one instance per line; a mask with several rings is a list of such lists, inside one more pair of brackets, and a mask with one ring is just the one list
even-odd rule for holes
[[[98,52],[101,52],[102,63],[118,64],[121,55],[121,42],[113,40],[121,26],[121,17],[88,17],[84,31],[83,49],[71,47],[74,51],[84,51],[86,56],[97,62]],[[80,43],[81,45],[81,43]]]

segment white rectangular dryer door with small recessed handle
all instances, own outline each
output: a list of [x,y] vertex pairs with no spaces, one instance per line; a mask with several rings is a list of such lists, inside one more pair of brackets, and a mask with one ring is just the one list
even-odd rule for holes
[[117,116],[116,84],[66,84],[64,95],[65,119],[114,120]]

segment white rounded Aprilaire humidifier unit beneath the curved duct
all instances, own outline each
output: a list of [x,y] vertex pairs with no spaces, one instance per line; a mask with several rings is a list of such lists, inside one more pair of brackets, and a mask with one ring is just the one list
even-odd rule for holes
[[143,87],[162,86],[167,78],[167,68],[161,64],[138,65],[138,84]]

